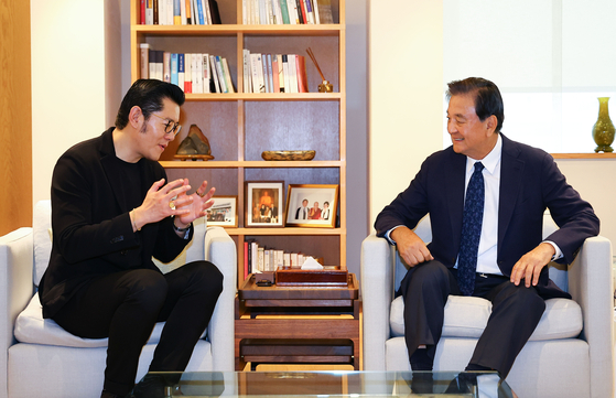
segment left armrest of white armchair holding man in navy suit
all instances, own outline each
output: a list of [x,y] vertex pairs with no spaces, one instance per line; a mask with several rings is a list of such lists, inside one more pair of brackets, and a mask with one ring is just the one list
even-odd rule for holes
[[364,368],[385,370],[385,342],[390,336],[389,311],[393,299],[393,250],[371,234],[361,244],[364,309]]

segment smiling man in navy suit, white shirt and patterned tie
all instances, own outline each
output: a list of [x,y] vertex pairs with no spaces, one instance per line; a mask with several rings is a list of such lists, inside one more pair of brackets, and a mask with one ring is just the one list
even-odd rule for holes
[[[599,222],[552,157],[500,133],[504,106],[494,83],[452,82],[447,97],[453,146],[423,162],[375,227],[410,267],[400,292],[411,368],[432,369],[447,295],[465,294],[493,302],[466,369],[496,369],[505,378],[539,323],[544,300],[571,298],[549,279],[545,266],[571,263],[584,240],[598,234]],[[480,203],[480,213],[472,201]],[[545,208],[560,229],[543,240]],[[428,245],[412,232],[426,214]]]

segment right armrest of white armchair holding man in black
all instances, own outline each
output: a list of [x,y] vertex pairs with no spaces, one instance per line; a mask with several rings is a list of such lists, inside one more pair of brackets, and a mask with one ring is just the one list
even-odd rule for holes
[[235,369],[234,300],[237,286],[237,250],[234,240],[221,227],[208,227],[205,234],[205,259],[224,276],[223,292],[208,326],[214,370]]

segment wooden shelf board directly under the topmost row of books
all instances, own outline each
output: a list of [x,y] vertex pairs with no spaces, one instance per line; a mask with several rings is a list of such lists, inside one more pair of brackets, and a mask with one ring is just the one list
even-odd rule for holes
[[322,25],[132,25],[132,31],[147,35],[176,36],[235,36],[237,34],[258,36],[337,36],[345,30],[339,24]]

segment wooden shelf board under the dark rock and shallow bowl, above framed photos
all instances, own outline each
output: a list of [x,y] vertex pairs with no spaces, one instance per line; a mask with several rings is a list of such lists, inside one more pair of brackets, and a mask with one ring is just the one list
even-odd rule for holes
[[296,168],[342,168],[345,162],[332,161],[161,161],[165,169],[296,169]]

